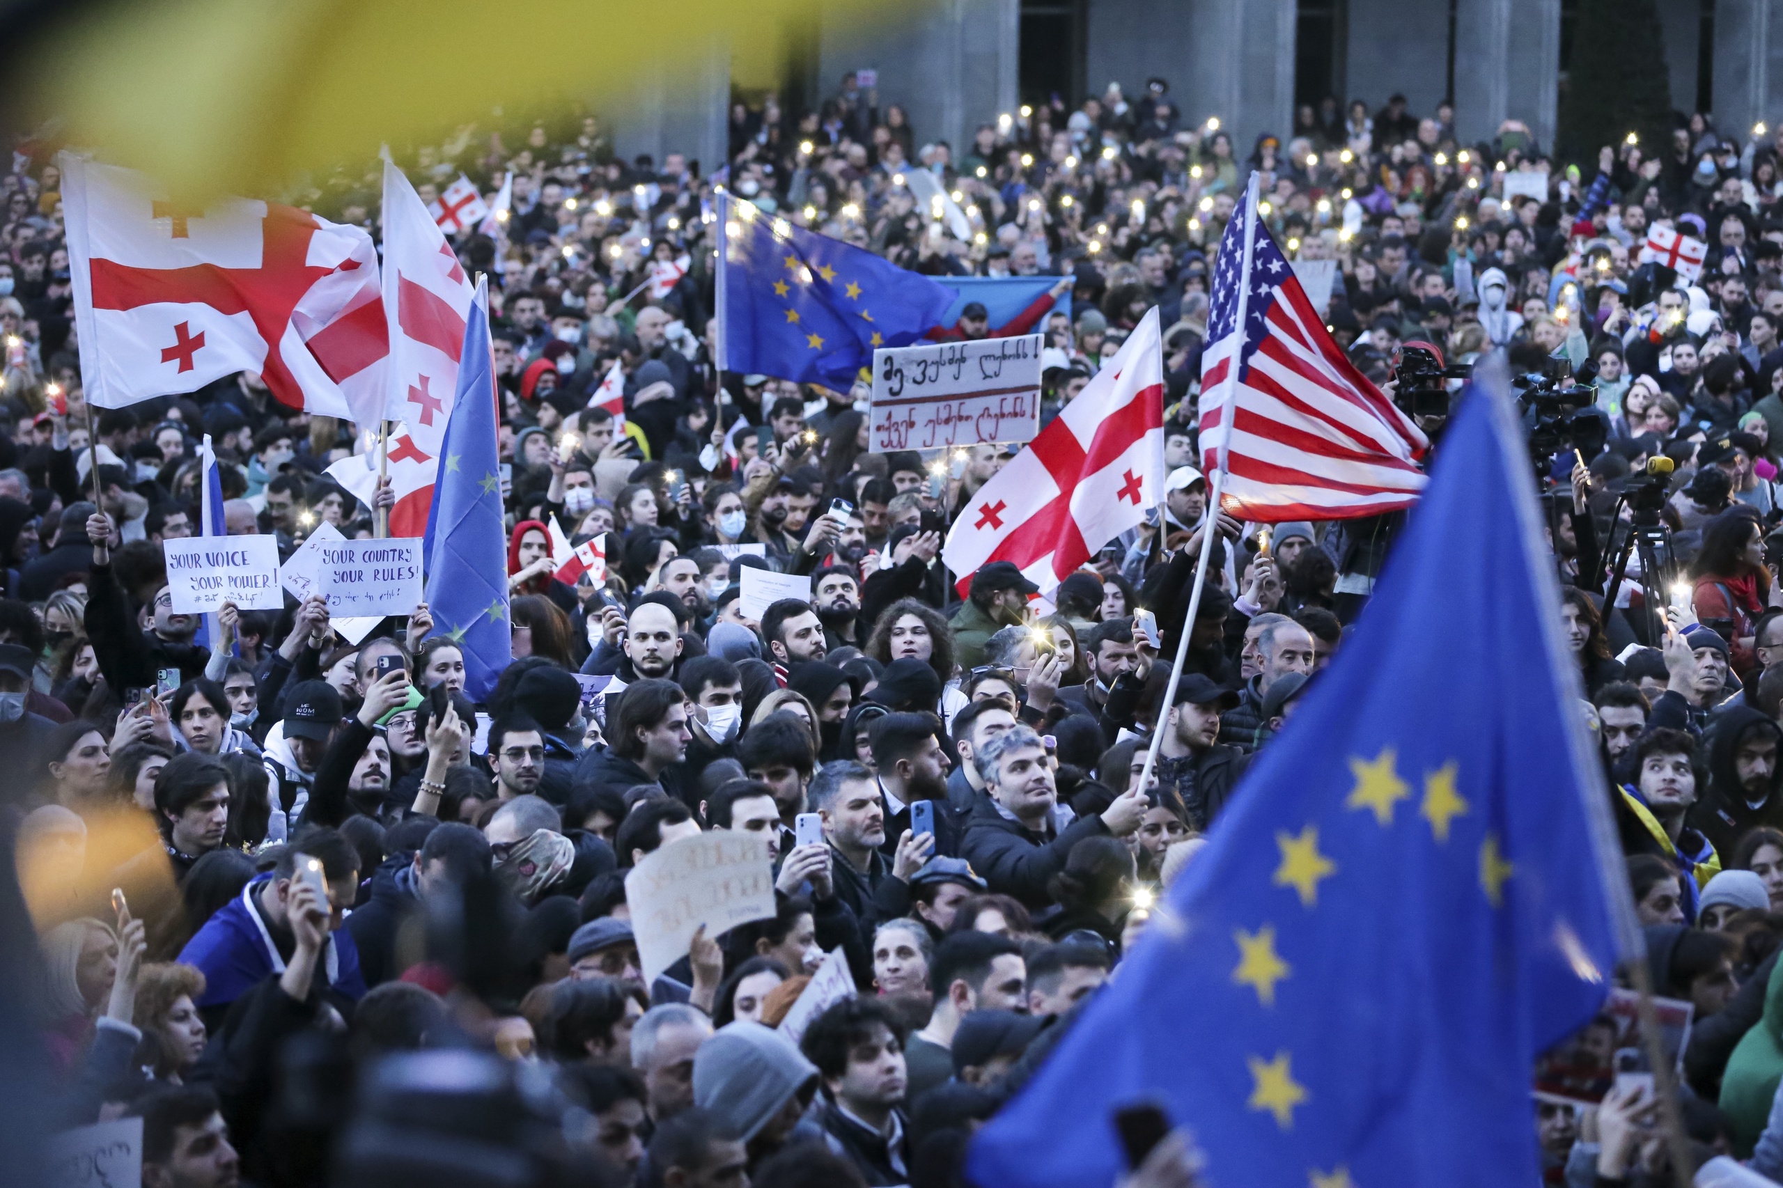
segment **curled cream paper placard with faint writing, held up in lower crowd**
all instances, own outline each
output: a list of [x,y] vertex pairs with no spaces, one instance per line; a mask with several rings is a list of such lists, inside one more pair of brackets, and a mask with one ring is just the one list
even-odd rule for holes
[[768,844],[738,829],[685,837],[644,856],[626,876],[626,908],[644,985],[688,953],[699,926],[717,938],[774,915]]

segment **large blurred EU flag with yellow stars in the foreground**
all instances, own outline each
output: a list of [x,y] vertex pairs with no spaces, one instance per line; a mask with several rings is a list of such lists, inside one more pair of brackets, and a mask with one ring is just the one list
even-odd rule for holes
[[1533,1060],[1639,936],[1530,480],[1508,396],[1469,389],[1355,637],[974,1183],[1111,1184],[1136,1102],[1216,1184],[1539,1181]]

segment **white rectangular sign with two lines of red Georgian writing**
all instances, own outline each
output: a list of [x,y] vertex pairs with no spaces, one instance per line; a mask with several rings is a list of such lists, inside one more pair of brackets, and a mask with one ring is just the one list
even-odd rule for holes
[[872,453],[1032,441],[1039,335],[874,351],[867,425]]

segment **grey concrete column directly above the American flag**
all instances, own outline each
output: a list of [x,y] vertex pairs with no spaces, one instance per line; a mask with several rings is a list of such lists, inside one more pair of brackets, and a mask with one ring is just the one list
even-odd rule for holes
[[[1184,123],[1218,116],[1241,162],[1262,132],[1286,144],[1294,116],[1294,0],[1179,0],[1168,7],[1195,36],[1193,70],[1171,86]],[[1352,78],[1355,71],[1352,61]]]

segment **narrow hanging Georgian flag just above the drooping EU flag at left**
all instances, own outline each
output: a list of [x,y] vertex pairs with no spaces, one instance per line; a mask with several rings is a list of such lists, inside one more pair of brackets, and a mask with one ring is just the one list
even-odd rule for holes
[[355,416],[360,428],[403,421],[415,444],[439,455],[446,441],[458,355],[471,312],[471,280],[403,171],[383,162],[383,310],[390,367],[382,408]]

